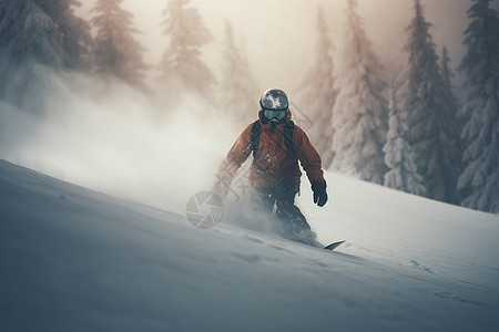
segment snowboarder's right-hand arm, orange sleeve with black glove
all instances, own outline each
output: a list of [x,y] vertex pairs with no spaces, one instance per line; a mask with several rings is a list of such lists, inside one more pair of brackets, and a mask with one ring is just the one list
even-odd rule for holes
[[303,169],[307,174],[314,191],[314,203],[324,206],[327,203],[326,180],[324,179],[323,162],[312,145],[308,136],[301,127],[295,131],[296,153]]

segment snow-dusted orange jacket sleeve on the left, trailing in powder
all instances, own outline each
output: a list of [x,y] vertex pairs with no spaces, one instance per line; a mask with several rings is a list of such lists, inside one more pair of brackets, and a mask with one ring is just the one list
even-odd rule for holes
[[216,184],[213,191],[222,197],[225,197],[228,193],[234,176],[251,154],[249,134],[252,127],[253,124],[241,133],[216,173]]

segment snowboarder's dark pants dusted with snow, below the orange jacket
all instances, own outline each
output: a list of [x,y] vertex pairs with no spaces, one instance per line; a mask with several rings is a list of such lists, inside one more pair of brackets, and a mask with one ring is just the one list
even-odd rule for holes
[[256,187],[258,206],[268,214],[276,207],[277,231],[284,237],[301,242],[310,242],[315,239],[305,216],[295,205],[299,184],[296,180],[286,180],[273,186]]

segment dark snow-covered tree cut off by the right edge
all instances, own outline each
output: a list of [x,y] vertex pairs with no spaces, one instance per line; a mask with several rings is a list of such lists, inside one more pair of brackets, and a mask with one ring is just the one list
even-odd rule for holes
[[468,120],[464,131],[466,169],[458,188],[462,206],[499,214],[499,19],[491,0],[472,0],[470,23],[465,31],[467,53],[460,115]]

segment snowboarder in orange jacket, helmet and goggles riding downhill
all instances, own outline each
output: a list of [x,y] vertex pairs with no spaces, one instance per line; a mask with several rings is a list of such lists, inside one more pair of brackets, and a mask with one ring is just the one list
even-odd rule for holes
[[268,214],[276,207],[282,224],[278,231],[284,237],[313,245],[315,232],[295,206],[295,196],[302,176],[299,160],[312,184],[314,203],[319,207],[327,203],[320,156],[305,132],[291,120],[284,91],[265,91],[259,105],[259,118],[243,131],[222,163],[214,193],[222,198],[227,195],[237,169],[253,153],[249,181],[258,206]]

